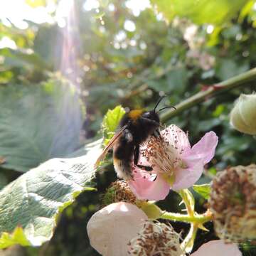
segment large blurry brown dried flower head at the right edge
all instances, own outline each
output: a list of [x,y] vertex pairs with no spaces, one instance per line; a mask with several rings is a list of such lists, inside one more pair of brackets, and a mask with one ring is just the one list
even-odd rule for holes
[[218,174],[209,205],[221,239],[256,240],[256,165],[235,166]]

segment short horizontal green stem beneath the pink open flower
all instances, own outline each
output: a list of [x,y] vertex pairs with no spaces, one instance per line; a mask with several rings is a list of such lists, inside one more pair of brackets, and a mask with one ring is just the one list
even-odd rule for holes
[[213,219],[213,216],[208,212],[204,214],[195,214],[193,216],[187,214],[180,214],[180,213],[169,213],[165,212],[161,215],[162,219],[165,220],[174,220],[174,221],[181,221],[186,223],[198,223],[203,224]]

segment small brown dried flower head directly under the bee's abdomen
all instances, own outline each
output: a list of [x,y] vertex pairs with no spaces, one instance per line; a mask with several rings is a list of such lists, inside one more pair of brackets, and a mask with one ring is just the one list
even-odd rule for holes
[[132,193],[126,181],[114,181],[102,198],[103,206],[110,203],[127,202],[135,204],[137,201],[136,196]]

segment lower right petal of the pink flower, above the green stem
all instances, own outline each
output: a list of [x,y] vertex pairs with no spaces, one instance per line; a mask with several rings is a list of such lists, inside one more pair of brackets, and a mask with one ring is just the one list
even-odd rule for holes
[[186,169],[177,169],[175,171],[175,181],[171,188],[179,191],[183,188],[193,186],[203,173],[203,161],[198,160],[193,166],[188,166]]

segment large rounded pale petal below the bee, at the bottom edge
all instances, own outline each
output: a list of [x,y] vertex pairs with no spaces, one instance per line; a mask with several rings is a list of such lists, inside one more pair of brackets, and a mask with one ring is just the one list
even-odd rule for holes
[[90,245],[104,256],[128,255],[128,242],[147,220],[146,214],[131,203],[112,203],[97,211],[87,223]]

